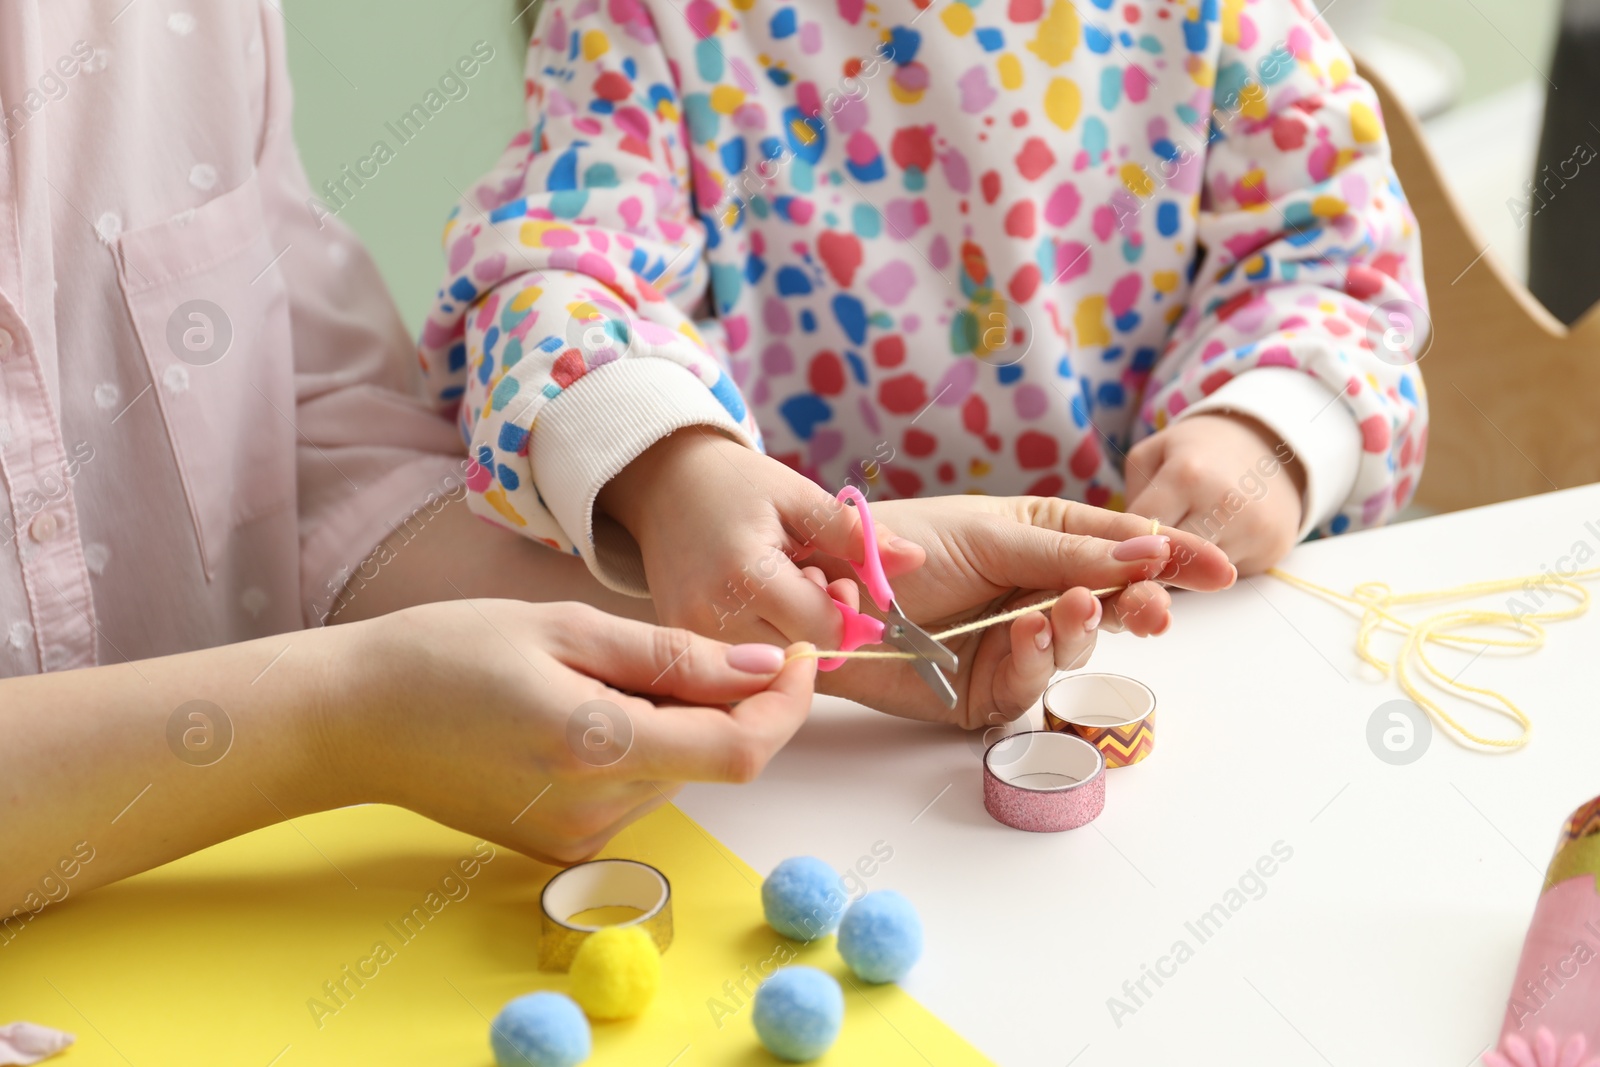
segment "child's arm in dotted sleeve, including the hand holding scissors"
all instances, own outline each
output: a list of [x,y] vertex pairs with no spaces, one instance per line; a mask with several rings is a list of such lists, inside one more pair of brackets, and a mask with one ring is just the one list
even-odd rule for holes
[[[706,266],[694,211],[728,206],[686,142],[738,101],[678,98],[645,5],[547,3],[528,86],[531,133],[450,222],[422,336],[435,398],[461,405],[472,509],[653,595],[664,622],[837,641],[837,608],[794,560],[859,555],[859,525],[762,454],[696,331],[725,330],[702,304],[742,282]],[[891,568],[904,555],[885,547]]]

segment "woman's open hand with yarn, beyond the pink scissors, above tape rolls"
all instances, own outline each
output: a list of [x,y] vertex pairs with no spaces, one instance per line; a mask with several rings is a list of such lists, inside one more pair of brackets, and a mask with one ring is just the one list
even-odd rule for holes
[[[907,617],[938,632],[1069,590],[1050,614],[1022,616],[946,641],[962,657],[955,712],[928,693],[909,664],[846,661],[819,677],[827,693],[907,718],[966,728],[1010,721],[1034,705],[1056,670],[1082,667],[1099,629],[1163,633],[1171,597],[1160,582],[1213,590],[1235,571],[1203,537],[1150,520],[1053,498],[946,496],[885,501],[874,517],[926,549],[922,566],[894,581]],[[848,574],[819,560],[829,577]],[[819,579],[821,581],[821,579]],[[1104,601],[1091,589],[1128,585]]]

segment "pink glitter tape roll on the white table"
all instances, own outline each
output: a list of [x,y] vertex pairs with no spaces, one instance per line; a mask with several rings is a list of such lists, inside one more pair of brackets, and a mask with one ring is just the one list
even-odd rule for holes
[[984,752],[984,808],[1018,830],[1075,830],[1106,808],[1106,757],[1050,729],[1002,737]]

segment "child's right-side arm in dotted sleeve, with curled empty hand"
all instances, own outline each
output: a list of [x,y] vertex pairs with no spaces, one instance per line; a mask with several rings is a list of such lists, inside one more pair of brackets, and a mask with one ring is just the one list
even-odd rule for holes
[[[1128,506],[1258,571],[1410,499],[1427,416],[1408,350],[1427,325],[1406,339],[1403,318],[1426,298],[1378,99],[1326,22],[1272,0],[1219,32],[1210,150],[1184,131],[1203,152],[1203,259],[1142,408],[1154,437],[1128,454]],[[1174,182],[1200,162],[1181,155]]]

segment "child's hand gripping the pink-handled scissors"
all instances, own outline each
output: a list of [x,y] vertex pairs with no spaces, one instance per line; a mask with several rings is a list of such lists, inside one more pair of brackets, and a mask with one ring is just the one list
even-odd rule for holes
[[[818,553],[859,561],[861,520],[805,475],[691,427],[606,483],[598,509],[638,541],[662,624],[725,641],[838,648],[838,608],[797,561]],[[922,560],[886,523],[877,523],[877,541],[890,577]],[[835,577],[845,574],[848,566]],[[834,589],[848,590],[853,582]]]

